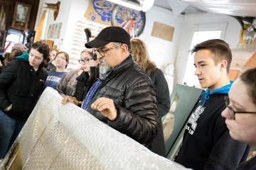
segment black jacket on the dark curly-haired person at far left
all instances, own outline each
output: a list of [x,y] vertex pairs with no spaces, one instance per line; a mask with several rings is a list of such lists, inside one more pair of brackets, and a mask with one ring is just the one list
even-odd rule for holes
[[27,120],[43,91],[48,73],[42,68],[35,72],[27,60],[12,60],[0,74],[0,109],[12,104],[11,111],[4,112],[11,118]]

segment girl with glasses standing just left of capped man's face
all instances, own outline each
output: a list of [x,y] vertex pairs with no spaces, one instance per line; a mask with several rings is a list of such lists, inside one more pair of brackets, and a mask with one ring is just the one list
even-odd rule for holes
[[90,81],[93,80],[90,77],[95,77],[96,74],[95,70],[98,65],[97,54],[92,49],[83,50],[78,62],[81,64],[80,70],[82,72],[78,72],[78,70],[76,72],[70,71],[61,79],[57,86],[59,94],[63,96],[63,104],[70,101],[80,106],[81,101],[85,98],[85,94],[87,94],[87,87],[93,83]]

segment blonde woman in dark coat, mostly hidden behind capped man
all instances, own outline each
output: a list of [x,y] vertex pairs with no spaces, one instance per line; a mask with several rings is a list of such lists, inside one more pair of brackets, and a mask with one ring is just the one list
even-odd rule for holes
[[[164,78],[164,74],[161,72],[161,69],[158,69],[156,64],[149,59],[146,45],[141,39],[132,38],[131,53],[134,57],[134,62],[137,62],[142,69],[149,74],[151,81],[156,87],[157,111],[159,113],[159,119],[161,120],[161,118],[169,112],[171,105],[169,88],[166,79]],[[156,138],[153,140],[151,151],[166,157],[167,153],[164,143],[164,132],[161,123]]]

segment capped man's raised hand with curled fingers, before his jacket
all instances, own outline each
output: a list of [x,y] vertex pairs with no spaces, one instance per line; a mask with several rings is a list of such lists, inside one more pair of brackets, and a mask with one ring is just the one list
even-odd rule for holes
[[91,108],[99,111],[102,113],[102,115],[110,120],[117,118],[117,109],[114,106],[114,102],[110,98],[98,98],[94,103],[92,103]]

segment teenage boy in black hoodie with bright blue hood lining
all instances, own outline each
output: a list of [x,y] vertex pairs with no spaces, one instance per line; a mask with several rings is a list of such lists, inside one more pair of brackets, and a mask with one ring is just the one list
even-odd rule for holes
[[191,112],[175,161],[196,170],[235,169],[246,160],[250,147],[230,137],[221,116],[233,83],[228,77],[231,50],[226,42],[215,39],[201,42],[191,52],[195,52],[195,74],[207,89]]

